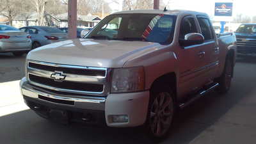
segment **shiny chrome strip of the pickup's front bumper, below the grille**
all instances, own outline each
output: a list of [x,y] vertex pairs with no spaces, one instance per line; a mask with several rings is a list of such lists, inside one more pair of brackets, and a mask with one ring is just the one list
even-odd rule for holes
[[74,105],[70,104],[58,104],[56,102],[51,102],[60,106],[67,106],[71,108],[80,108],[80,109],[92,109],[92,110],[100,110],[104,111],[105,108],[105,97],[84,97],[76,96],[76,95],[56,95],[56,94],[50,94],[46,92],[42,92],[39,90],[36,90],[31,84],[28,83],[28,80],[26,77],[21,79],[20,81],[20,91],[22,95],[26,97],[30,97],[36,100],[42,100],[49,102],[48,100],[40,99],[38,96],[41,97],[47,97],[50,99],[55,100],[65,100],[65,101],[71,101],[74,102]]

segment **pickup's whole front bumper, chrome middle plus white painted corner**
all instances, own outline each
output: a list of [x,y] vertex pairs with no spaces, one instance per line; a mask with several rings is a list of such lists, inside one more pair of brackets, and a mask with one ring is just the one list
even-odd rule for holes
[[[39,88],[40,89],[40,88]],[[53,94],[45,90],[38,90],[28,83],[24,77],[20,81],[20,91],[25,102],[36,102],[38,105],[51,105],[53,109],[69,109],[70,111],[93,111],[92,114],[100,112],[100,120],[104,120],[109,127],[136,127],[145,123],[148,111],[149,92],[135,93],[109,93],[108,97],[86,97],[77,95]],[[47,99],[42,99],[47,98]],[[54,101],[55,100],[55,101]],[[61,104],[58,101],[72,102],[72,104]],[[29,104],[27,103],[29,106]],[[29,108],[36,111],[34,106]],[[50,108],[50,107],[49,107]],[[91,113],[91,112],[90,112]],[[127,115],[128,122],[113,122],[111,116]]]

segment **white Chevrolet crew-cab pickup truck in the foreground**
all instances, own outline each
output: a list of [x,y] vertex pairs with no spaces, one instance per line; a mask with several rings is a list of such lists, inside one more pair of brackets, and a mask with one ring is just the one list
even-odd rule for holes
[[228,92],[235,62],[236,36],[217,36],[205,13],[117,12],[86,38],[30,51],[20,89],[49,120],[142,126],[161,139],[177,109]]

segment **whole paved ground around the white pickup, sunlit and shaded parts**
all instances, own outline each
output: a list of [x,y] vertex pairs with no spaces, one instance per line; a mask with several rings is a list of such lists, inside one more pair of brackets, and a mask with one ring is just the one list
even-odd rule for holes
[[[25,56],[0,54],[0,143],[152,143],[139,128],[49,122],[28,109],[19,92]],[[177,113],[168,144],[255,144],[256,59],[239,58],[230,92],[206,95]]]

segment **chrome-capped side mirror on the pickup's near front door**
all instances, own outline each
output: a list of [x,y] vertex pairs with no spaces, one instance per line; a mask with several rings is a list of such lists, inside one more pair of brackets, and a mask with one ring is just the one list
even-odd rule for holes
[[184,39],[180,39],[181,46],[187,47],[190,45],[198,45],[204,43],[204,36],[200,33],[188,33],[184,36]]

